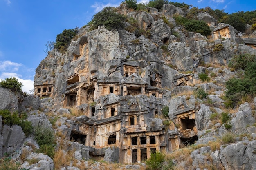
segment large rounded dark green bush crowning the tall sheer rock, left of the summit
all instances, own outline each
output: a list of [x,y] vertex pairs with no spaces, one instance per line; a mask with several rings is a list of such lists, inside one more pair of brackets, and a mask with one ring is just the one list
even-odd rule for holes
[[98,26],[105,26],[106,29],[124,28],[126,17],[116,13],[115,8],[105,7],[101,12],[96,13],[92,18],[92,29],[97,29]]

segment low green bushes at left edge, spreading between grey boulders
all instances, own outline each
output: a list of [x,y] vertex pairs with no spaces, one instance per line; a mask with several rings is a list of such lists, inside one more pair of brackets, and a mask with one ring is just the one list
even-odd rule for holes
[[26,136],[28,136],[32,132],[32,123],[25,120],[27,118],[27,114],[22,113],[18,115],[18,112],[11,113],[9,110],[0,110],[0,115],[3,117],[3,124],[17,124],[22,128]]

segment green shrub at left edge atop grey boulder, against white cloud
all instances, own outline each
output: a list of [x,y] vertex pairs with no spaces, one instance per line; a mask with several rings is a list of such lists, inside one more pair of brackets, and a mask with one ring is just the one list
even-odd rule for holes
[[4,88],[9,88],[11,91],[22,91],[22,83],[18,82],[18,79],[15,77],[6,78],[5,80],[1,80],[0,86]]

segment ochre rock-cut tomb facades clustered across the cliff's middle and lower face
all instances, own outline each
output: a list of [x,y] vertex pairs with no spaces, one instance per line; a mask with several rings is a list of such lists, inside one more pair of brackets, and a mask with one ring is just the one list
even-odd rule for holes
[[[88,117],[86,122],[76,122],[71,127],[70,141],[85,146],[120,148],[119,162],[143,162],[150,153],[171,151],[197,140],[195,109],[180,103],[175,112],[175,130],[171,123],[166,130],[161,117],[164,106],[161,90],[162,75],[144,69],[144,77],[138,76],[139,67],[125,62],[122,79],[97,80],[97,71],[90,73],[88,83],[80,82],[78,73],[67,78],[63,101],[64,108],[77,107]],[[176,86],[189,85],[191,74],[177,76]],[[35,85],[39,96],[52,96],[53,83]],[[139,96],[138,96],[139,95]]]

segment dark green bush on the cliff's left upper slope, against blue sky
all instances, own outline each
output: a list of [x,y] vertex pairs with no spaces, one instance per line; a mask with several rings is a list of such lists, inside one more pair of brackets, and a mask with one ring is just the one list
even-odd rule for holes
[[65,52],[67,47],[70,45],[72,38],[78,33],[78,31],[79,29],[77,27],[74,29],[64,29],[62,33],[57,35],[54,47],[61,53]]

